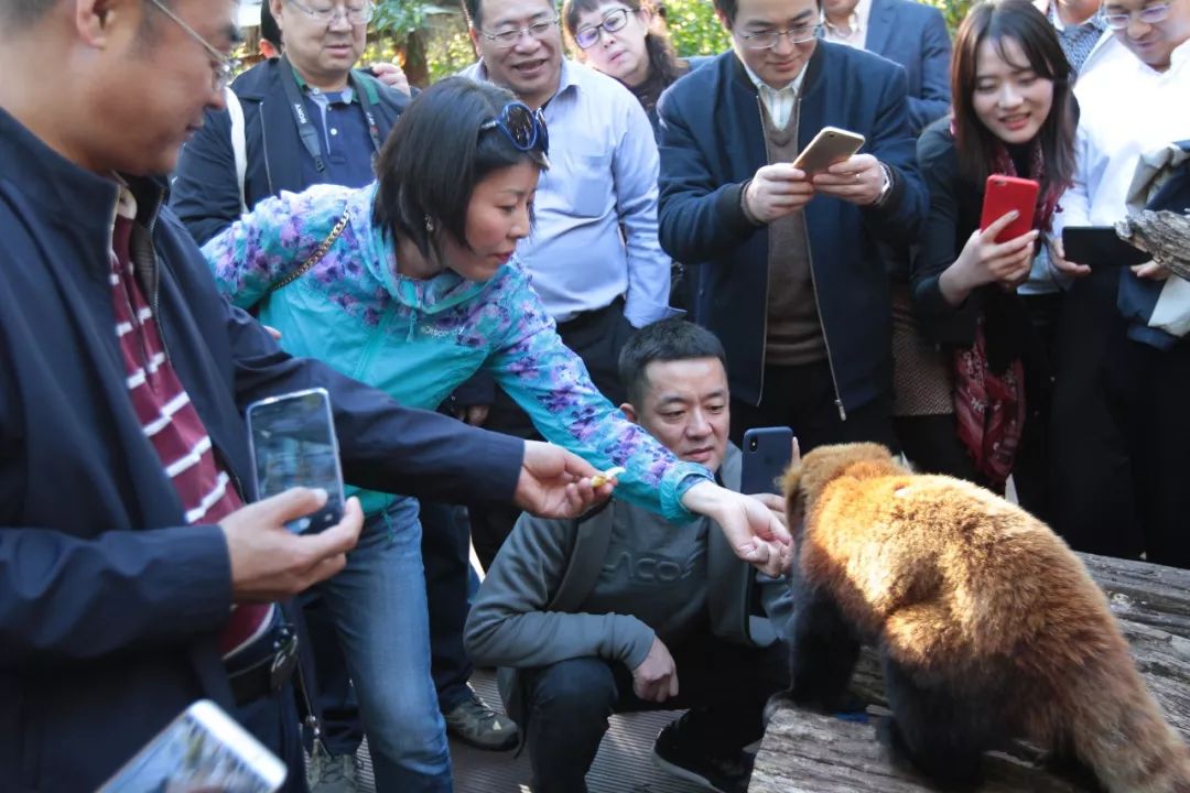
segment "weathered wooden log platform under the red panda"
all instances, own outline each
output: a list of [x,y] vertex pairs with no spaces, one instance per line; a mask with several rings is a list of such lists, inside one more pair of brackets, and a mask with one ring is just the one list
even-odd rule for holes
[[[1173,728],[1190,739],[1190,571],[1078,554],[1108,596],[1132,646],[1141,676]],[[888,713],[876,653],[864,648],[853,691],[872,703],[870,716]],[[860,717],[862,718],[862,717]],[[1036,749],[984,759],[981,793],[1081,793],[1084,788],[1047,774]],[[777,710],[756,757],[750,793],[927,793],[934,788],[895,766],[876,739],[875,725]]]

